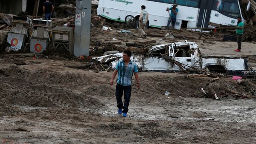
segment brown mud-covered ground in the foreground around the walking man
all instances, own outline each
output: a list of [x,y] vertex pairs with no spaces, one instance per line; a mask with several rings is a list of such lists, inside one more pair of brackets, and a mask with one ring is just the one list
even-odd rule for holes
[[[139,73],[128,118],[117,114],[112,72],[81,62],[0,58],[0,143],[255,143],[255,99],[206,98],[212,78]],[[256,80],[222,87],[256,95]],[[170,95],[166,96],[165,91]]]

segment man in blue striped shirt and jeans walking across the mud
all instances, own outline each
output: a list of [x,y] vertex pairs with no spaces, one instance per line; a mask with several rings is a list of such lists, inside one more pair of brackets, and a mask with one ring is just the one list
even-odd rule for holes
[[[140,79],[138,75],[137,65],[131,62],[131,51],[123,52],[123,60],[118,62],[116,69],[110,81],[110,85],[113,85],[116,74],[118,73],[118,79],[116,84],[116,102],[118,107],[118,114],[123,114],[123,117],[127,117],[128,107],[131,98],[131,77],[134,73],[137,81],[137,88],[140,89]],[[125,102],[122,102],[122,95],[124,93]]]

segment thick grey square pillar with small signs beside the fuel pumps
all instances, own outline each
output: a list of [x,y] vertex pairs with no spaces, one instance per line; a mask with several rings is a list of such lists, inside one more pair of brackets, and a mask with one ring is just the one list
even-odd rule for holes
[[75,56],[89,56],[91,6],[91,0],[76,0]]

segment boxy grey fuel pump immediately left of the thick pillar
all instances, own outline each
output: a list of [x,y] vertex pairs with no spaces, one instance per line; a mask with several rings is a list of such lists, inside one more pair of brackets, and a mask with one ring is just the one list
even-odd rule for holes
[[74,30],[73,27],[56,26],[52,29],[53,48],[63,45],[70,54],[74,54]]

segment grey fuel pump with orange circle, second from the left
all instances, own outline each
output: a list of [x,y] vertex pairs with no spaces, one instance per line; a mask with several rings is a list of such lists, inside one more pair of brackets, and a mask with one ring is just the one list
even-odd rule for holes
[[52,26],[52,21],[34,19],[32,22],[34,31],[30,37],[30,51],[41,54],[51,41],[47,27]]

